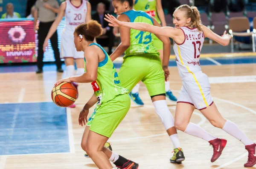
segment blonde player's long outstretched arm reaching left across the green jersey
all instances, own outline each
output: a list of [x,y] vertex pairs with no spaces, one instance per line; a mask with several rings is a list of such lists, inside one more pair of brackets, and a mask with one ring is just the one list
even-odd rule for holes
[[176,38],[179,36],[180,30],[166,26],[166,27],[158,27],[154,25],[150,25],[148,23],[130,23],[130,22],[121,22],[117,20],[113,15],[105,15],[106,18],[104,18],[106,21],[109,22],[108,25],[113,26],[113,27],[127,27],[127,28],[132,28],[136,29],[139,31],[147,31],[151,32],[152,34],[156,35],[162,35],[165,37],[170,37],[172,39]]

